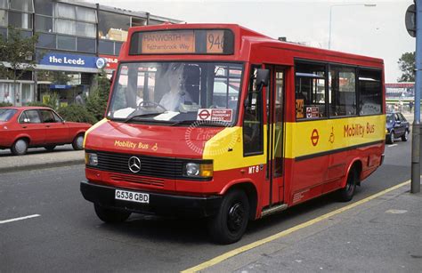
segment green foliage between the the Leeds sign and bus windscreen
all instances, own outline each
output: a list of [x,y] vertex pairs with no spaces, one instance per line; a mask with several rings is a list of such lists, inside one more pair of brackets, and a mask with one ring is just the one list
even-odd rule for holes
[[93,113],[97,120],[102,119],[104,112],[107,108],[107,101],[109,100],[110,81],[106,76],[107,74],[102,71],[96,76],[97,86],[90,93],[89,97],[85,98],[86,109]]

